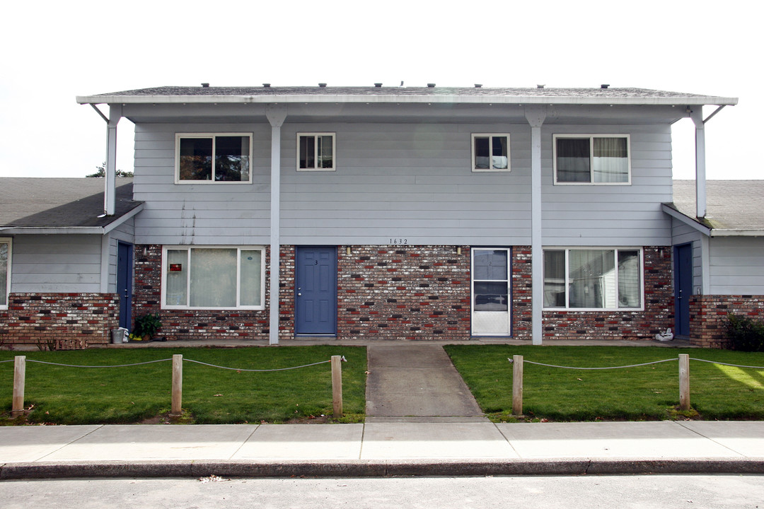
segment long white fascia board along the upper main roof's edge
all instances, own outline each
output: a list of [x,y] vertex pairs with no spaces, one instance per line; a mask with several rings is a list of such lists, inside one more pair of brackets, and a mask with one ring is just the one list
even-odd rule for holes
[[81,105],[210,103],[442,103],[517,105],[736,105],[728,97],[578,97],[531,95],[82,95]]

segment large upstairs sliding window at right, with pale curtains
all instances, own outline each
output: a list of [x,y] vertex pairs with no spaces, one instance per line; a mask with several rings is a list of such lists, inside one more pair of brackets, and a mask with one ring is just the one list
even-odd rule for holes
[[630,184],[628,134],[555,134],[555,184]]

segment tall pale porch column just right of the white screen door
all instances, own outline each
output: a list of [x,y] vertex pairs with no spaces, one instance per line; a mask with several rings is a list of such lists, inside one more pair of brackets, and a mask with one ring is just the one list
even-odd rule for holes
[[544,307],[544,250],[541,230],[541,126],[546,108],[529,106],[525,110],[530,124],[530,224],[531,224],[531,337],[534,345],[542,343],[542,308]]

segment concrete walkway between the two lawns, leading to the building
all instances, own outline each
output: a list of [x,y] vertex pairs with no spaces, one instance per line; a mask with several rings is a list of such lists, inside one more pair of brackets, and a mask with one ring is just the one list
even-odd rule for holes
[[487,422],[442,346],[367,346],[366,422]]

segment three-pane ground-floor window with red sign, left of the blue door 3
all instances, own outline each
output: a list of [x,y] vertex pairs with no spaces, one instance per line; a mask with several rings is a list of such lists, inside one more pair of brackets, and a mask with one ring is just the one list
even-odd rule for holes
[[264,309],[265,253],[257,246],[167,246],[165,309]]

